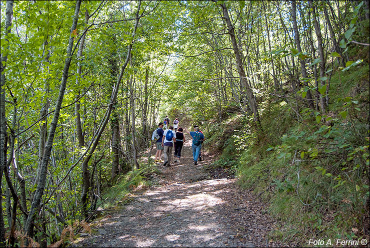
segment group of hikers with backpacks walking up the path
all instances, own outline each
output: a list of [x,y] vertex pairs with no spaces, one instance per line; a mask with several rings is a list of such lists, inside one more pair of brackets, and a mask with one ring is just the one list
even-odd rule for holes
[[158,123],[158,128],[155,129],[152,133],[151,139],[156,144],[156,153],[154,162],[161,163],[160,160],[162,151],[164,154],[164,163],[163,166],[170,166],[171,163],[171,154],[172,147],[174,147],[174,163],[180,162],[182,145],[185,143],[185,136],[183,131],[188,133],[192,139],[192,157],[193,164],[197,164],[197,160],[201,161],[201,152],[200,148],[204,141],[204,135],[200,131],[198,126],[194,126],[194,131],[189,132],[187,129],[178,128],[178,119],[176,118],[173,121],[173,125],[169,124],[169,118],[166,116],[163,122]]

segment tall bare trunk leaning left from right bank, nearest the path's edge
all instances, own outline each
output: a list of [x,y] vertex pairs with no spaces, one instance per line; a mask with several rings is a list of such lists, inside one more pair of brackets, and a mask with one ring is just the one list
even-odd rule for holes
[[234,27],[232,26],[230,18],[228,16],[226,5],[221,4],[221,7],[222,7],[222,10],[223,10],[223,17],[224,17],[224,19],[226,21],[226,24],[227,24],[228,34],[230,35],[230,38],[231,38],[232,48],[233,48],[234,53],[235,53],[235,58],[236,58],[236,64],[237,64],[239,77],[240,77],[240,80],[242,82],[243,87],[246,89],[246,95],[247,95],[248,100],[249,100],[250,108],[251,108],[251,110],[253,112],[253,115],[254,115],[253,120],[255,122],[257,122],[259,127],[260,127],[257,103],[255,101],[253,92],[251,91],[251,89],[248,85],[248,82],[246,81],[246,76],[245,76],[245,72],[244,72],[244,69],[243,69],[243,63],[242,63],[240,53],[239,53],[239,49],[237,47],[237,43],[236,43],[236,39],[235,39]]

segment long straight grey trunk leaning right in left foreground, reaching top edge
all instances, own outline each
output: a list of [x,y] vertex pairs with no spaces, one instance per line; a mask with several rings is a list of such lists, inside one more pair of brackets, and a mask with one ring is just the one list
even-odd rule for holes
[[[73,17],[73,24],[72,24],[72,27],[71,27],[71,30],[70,30],[70,34],[72,34],[72,31],[74,31],[77,27],[78,12],[79,12],[80,4],[81,4],[81,1],[79,1],[79,0],[76,1],[76,7],[75,7],[74,17]],[[47,164],[48,164],[48,161],[49,161],[49,158],[50,158],[52,143],[53,143],[53,139],[54,139],[54,135],[55,135],[55,129],[56,129],[56,125],[57,125],[58,118],[59,118],[60,107],[61,107],[61,103],[63,101],[64,92],[65,92],[66,82],[67,82],[67,78],[68,78],[68,70],[69,70],[69,65],[70,65],[70,61],[71,61],[72,48],[73,48],[73,37],[70,35],[69,36],[69,41],[68,41],[66,59],[65,59],[65,63],[64,63],[63,75],[62,75],[61,83],[60,83],[59,95],[58,95],[58,98],[57,98],[57,101],[56,101],[56,104],[55,104],[54,116],[53,116],[53,119],[52,119],[51,124],[50,124],[49,134],[48,134],[48,137],[47,137],[47,143],[46,143],[44,155],[43,155],[43,158],[42,158],[41,168],[39,169],[40,170],[40,173],[39,173],[40,177],[39,177],[38,182],[37,182],[37,189],[36,189],[35,195],[33,197],[32,204],[31,204],[31,207],[29,209],[29,215],[28,215],[25,227],[24,227],[25,228],[25,233],[28,236],[33,233],[32,222],[33,222],[35,216],[37,215],[38,208],[40,206],[40,200],[41,200],[43,190],[44,190],[44,187],[45,187],[45,183],[46,183]]]

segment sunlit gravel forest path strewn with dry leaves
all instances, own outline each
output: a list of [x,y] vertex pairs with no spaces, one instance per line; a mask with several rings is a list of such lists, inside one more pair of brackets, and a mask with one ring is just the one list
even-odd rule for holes
[[204,154],[205,161],[193,165],[191,139],[187,139],[183,149],[180,163],[174,164],[172,159],[170,167],[157,164],[160,175],[152,178],[156,185],[136,190],[122,208],[94,220],[91,228],[95,234],[81,235],[74,245],[283,246],[267,240],[274,221],[263,203],[250,191],[241,190],[236,179],[210,179],[203,166],[212,163],[214,157]]

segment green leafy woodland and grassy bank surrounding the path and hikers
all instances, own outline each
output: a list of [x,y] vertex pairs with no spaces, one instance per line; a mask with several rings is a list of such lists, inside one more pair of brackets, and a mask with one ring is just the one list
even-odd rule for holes
[[367,1],[1,1],[1,246],[67,245],[150,184],[165,115],[271,236],[368,240],[368,63]]

